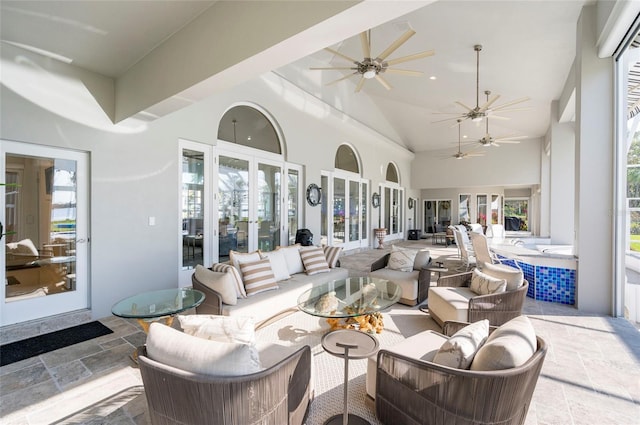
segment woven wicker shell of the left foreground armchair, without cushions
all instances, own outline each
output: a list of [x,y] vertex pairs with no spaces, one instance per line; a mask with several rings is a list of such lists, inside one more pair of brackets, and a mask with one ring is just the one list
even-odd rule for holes
[[154,425],[304,423],[310,402],[311,349],[268,369],[237,377],[197,375],[158,363],[138,348]]

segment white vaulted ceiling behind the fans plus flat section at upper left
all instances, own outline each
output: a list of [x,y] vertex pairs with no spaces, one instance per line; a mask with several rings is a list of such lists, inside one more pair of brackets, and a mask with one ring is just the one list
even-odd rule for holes
[[[308,68],[348,63],[324,50],[295,58],[291,64],[274,71],[414,152],[455,150],[458,139],[455,121],[434,124],[433,121],[448,117],[434,113],[462,112],[454,101],[475,106],[473,46],[481,44],[480,90],[501,95],[496,105],[530,98],[521,104],[528,110],[501,114],[509,120],[490,120],[490,133],[493,137],[540,138],[549,125],[550,104],[559,98],[570,72],[576,48],[576,22],[582,6],[588,2],[591,1],[441,0],[375,26],[371,30],[374,54],[386,48],[408,26],[417,34],[388,59],[423,50],[436,52],[432,57],[398,66],[423,71],[423,77],[386,75],[393,86],[390,91],[371,80],[360,93],[354,93],[355,77],[326,86],[344,74]],[[118,78],[215,3],[3,0],[0,37],[3,42],[43,49],[71,59],[75,66]],[[335,42],[328,31],[326,39],[330,40],[327,44]],[[332,47],[362,59],[357,36]],[[430,76],[436,79],[431,80]],[[481,104],[483,99],[481,93]],[[462,132],[471,139],[480,138],[484,123],[478,127],[465,121]],[[522,143],[526,142],[525,139]]]

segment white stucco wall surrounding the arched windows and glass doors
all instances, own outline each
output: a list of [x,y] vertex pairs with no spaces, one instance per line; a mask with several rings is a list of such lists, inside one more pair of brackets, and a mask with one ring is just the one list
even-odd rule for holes
[[[3,65],[7,60],[13,57],[3,56]],[[402,185],[411,187],[411,152],[272,73],[126,133],[101,117],[78,114],[78,122],[72,114],[57,110],[77,99],[90,100],[90,93],[86,87],[83,90],[72,68],[39,65],[48,77],[40,81],[41,94],[53,93],[52,99],[41,103],[38,93],[25,99],[21,90],[27,87],[22,82],[12,85],[3,80],[0,138],[90,153],[90,306],[96,318],[110,315],[111,306],[126,296],[177,286],[178,140],[215,145],[218,122],[234,103],[257,104],[275,118],[286,139],[286,159],[305,165],[305,187],[320,182],[321,170],[333,170],[336,149],[344,142],[362,159],[362,176],[371,180],[372,192],[383,181],[381,170],[389,161],[398,166]],[[65,80],[77,83],[77,92],[46,85]],[[56,104],[56,97],[65,103]],[[155,226],[148,225],[149,217],[155,217]],[[319,235],[320,208],[305,203],[304,217],[306,227]],[[375,219],[370,219],[371,228]]]

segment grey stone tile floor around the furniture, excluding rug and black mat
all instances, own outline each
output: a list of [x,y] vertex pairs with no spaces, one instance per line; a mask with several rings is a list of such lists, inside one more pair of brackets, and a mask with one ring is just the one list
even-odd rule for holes
[[[425,245],[432,257],[456,266],[455,247],[403,244]],[[360,275],[385,252],[346,255],[342,266]],[[549,345],[527,425],[640,424],[640,333],[633,324],[531,299],[525,314]],[[145,334],[135,322],[100,321],[114,333],[0,368],[0,423],[149,423],[140,373],[129,357]],[[50,322],[2,328],[0,340],[50,331]]]

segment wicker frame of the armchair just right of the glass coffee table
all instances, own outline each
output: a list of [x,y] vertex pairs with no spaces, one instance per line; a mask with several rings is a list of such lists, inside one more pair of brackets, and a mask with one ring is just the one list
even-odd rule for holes
[[[431,288],[431,291],[443,291],[443,287],[468,288],[471,284],[472,276],[473,272],[441,276],[438,279],[438,286]],[[497,294],[476,295],[469,289],[463,289],[464,292],[461,291],[461,294],[468,297],[466,318],[453,317],[450,311],[441,308],[441,306],[435,302],[432,303],[431,300],[429,300],[429,315],[438,322],[440,326],[447,320],[477,322],[482,319],[488,319],[489,323],[493,326],[500,326],[522,314],[528,288],[529,283],[525,280],[518,289]]]

